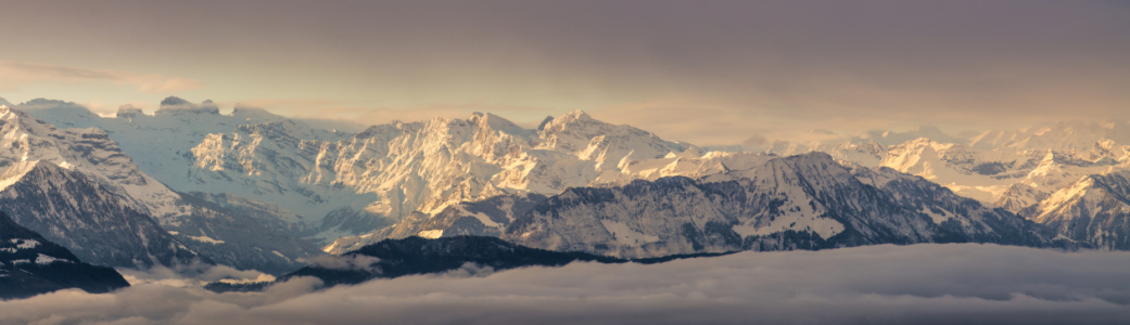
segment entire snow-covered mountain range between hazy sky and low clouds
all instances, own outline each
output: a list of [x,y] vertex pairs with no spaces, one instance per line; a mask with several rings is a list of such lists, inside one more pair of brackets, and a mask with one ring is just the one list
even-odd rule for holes
[[[1130,124],[937,128],[711,151],[576,111],[357,133],[169,97],[0,108],[0,203],[99,265],[285,274],[386,238],[655,257],[871,244],[1128,249]],[[16,204],[16,203],[23,203]],[[323,253],[325,252],[325,253]]]

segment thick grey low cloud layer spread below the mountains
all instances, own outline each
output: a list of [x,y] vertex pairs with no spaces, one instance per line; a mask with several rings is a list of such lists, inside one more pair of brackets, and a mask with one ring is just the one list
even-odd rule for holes
[[460,270],[314,291],[138,284],[0,302],[40,324],[1118,324],[1130,253],[994,245],[740,253],[655,265]]

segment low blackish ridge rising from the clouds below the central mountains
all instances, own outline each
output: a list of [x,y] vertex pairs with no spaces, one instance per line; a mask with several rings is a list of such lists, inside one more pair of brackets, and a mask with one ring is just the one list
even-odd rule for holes
[[684,254],[652,258],[626,260],[582,252],[554,252],[531,248],[496,237],[458,236],[436,239],[408,237],[384,239],[341,256],[319,257],[313,265],[278,278],[273,282],[250,284],[209,283],[216,292],[259,291],[295,276],[321,279],[325,287],[357,284],[373,279],[392,279],[412,274],[442,273],[473,263],[495,271],[525,266],[563,266],[573,262],[654,264],[679,258],[728,255],[728,253]]

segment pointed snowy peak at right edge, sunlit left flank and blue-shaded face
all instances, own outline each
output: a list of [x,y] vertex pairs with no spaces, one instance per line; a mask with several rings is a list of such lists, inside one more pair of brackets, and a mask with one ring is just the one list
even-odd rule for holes
[[1040,202],[1036,222],[1101,249],[1130,249],[1130,172],[1088,175]]

